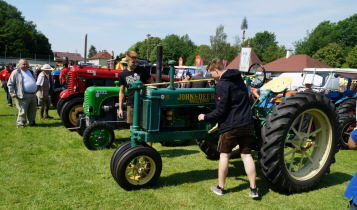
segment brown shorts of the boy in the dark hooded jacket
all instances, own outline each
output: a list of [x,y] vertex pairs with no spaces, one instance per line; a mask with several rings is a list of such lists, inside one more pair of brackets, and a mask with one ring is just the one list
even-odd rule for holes
[[241,154],[250,154],[254,141],[253,129],[253,124],[248,124],[222,133],[219,136],[217,151],[231,153],[232,149],[239,145]]

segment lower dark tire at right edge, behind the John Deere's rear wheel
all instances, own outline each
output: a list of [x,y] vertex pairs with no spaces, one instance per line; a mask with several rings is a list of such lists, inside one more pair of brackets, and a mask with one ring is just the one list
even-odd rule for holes
[[340,131],[340,142],[339,146],[341,149],[348,149],[348,139],[353,129],[356,127],[356,117],[350,114],[344,114],[339,116],[339,131]]

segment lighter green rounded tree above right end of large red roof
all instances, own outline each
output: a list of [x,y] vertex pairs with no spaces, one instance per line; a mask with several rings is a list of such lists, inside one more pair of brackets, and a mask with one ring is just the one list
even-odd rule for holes
[[340,68],[344,62],[343,49],[337,43],[319,49],[312,57],[335,68]]

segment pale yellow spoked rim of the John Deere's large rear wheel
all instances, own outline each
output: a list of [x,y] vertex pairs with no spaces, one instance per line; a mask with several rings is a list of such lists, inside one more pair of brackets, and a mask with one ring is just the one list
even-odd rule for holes
[[332,147],[332,126],[324,112],[309,109],[292,123],[284,141],[288,173],[303,181],[314,177],[325,165]]

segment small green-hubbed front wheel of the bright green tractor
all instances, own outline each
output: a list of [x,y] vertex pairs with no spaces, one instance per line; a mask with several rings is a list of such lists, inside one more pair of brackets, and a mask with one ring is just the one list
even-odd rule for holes
[[114,129],[105,122],[95,122],[83,133],[83,143],[89,150],[108,148],[114,141]]

